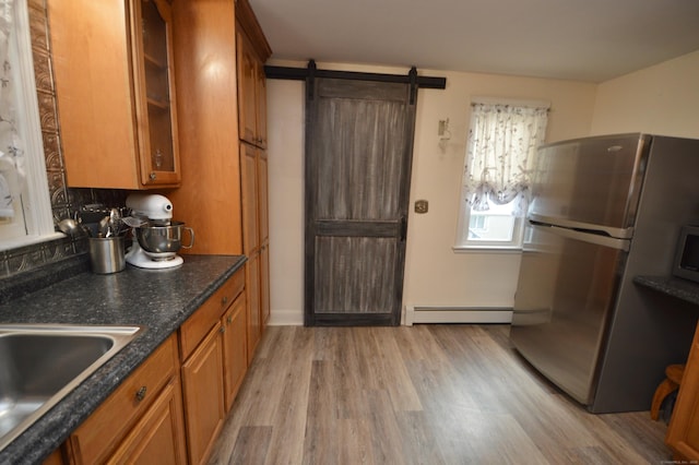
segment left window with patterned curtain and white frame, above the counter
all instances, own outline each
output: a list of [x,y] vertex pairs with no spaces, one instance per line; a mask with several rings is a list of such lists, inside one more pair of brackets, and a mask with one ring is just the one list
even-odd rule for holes
[[51,239],[26,0],[0,0],[0,250]]

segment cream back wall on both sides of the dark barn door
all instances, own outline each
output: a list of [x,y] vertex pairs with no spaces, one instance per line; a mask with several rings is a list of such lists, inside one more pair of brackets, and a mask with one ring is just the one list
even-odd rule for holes
[[[304,67],[305,63],[274,64]],[[406,69],[318,63],[344,69],[404,74]],[[587,135],[596,85],[571,81],[419,70],[446,76],[447,88],[420,90],[417,103],[411,216],[408,217],[404,305],[509,307],[519,254],[455,253],[452,250],[472,96],[547,100],[548,141]],[[268,82],[271,324],[303,322],[304,257],[304,83]],[[449,118],[451,141],[438,145],[438,121]],[[417,215],[415,200],[429,202]]]

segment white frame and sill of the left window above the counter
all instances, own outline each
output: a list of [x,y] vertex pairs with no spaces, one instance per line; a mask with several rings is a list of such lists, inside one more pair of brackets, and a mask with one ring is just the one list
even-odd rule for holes
[[63,237],[54,226],[46,160],[42,138],[34,60],[29,36],[29,19],[26,0],[17,0],[13,8],[13,28],[10,39],[10,56],[16,58],[12,63],[17,82],[13,83],[16,92],[16,112],[20,136],[24,143],[24,170],[26,178],[22,191],[22,210],[24,214],[25,234],[17,234],[15,225],[0,224],[0,251],[31,246]]

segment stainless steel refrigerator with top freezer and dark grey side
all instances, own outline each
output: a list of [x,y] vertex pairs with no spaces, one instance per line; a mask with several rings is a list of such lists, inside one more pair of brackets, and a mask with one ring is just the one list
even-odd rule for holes
[[699,309],[633,284],[671,274],[699,223],[699,141],[649,134],[542,146],[533,172],[510,338],[593,413],[650,409],[684,362]]

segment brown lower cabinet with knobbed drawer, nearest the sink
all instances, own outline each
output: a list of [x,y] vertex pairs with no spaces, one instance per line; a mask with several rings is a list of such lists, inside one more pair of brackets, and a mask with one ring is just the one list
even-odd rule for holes
[[76,464],[186,464],[177,338],[163,343],[66,443]]

